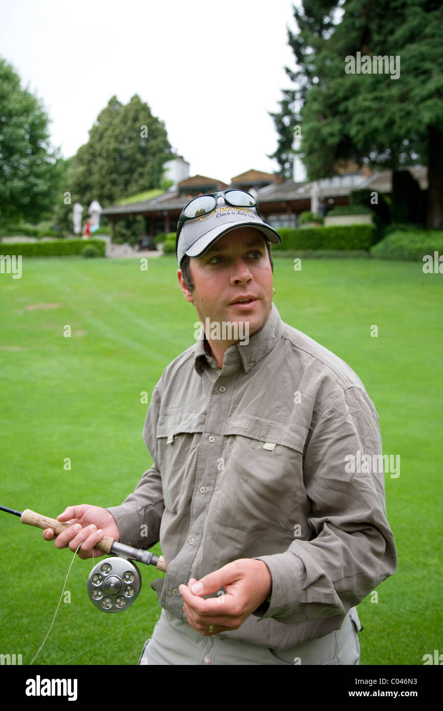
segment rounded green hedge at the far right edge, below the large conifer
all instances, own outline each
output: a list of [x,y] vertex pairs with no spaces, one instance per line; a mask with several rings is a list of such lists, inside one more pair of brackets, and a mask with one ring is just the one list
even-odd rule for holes
[[442,230],[397,230],[390,232],[370,250],[372,257],[383,260],[422,262],[425,255],[443,254]]

